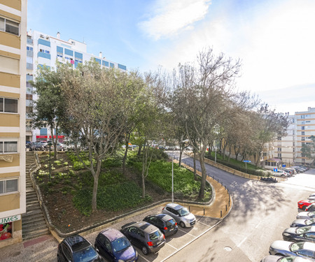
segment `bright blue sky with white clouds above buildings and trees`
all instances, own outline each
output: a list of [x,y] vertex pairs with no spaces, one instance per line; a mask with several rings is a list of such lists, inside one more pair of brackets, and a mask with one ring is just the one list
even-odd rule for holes
[[314,14],[314,0],[28,0],[27,29],[140,72],[212,48],[241,59],[237,90],[293,115],[315,108]]

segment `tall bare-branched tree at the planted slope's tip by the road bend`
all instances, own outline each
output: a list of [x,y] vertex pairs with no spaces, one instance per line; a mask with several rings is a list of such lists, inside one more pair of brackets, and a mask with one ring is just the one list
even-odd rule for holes
[[198,55],[198,67],[179,66],[179,80],[172,95],[172,108],[181,108],[179,117],[186,125],[186,132],[202,167],[199,198],[204,198],[206,168],[204,157],[209,141],[216,136],[216,125],[228,117],[233,80],[239,73],[240,61],[216,56],[208,49]]

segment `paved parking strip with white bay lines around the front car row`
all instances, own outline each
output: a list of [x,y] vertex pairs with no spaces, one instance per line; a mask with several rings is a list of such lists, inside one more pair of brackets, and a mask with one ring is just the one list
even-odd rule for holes
[[[161,212],[162,207],[158,207],[153,210],[144,212],[142,214],[138,214],[137,216],[132,217],[130,219],[126,219],[125,221],[120,221],[119,223],[113,224],[110,227],[120,230],[121,226],[123,226],[124,224],[130,223],[131,221],[141,221],[148,214],[160,214]],[[141,252],[141,249],[136,247],[137,252],[139,253],[138,261],[139,262],[165,261],[169,256],[172,256],[172,254],[178,252],[183,247],[186,247],[186,245],[189,245],[190,242],[197,239],[200,235],[211,230],[211,228],[213,228],[220,221],[218,219],[200,216],[196,216],[196,219],[197,221],[195,226],[191,228],[181,228],[181,226],[179,226],[179,231],[176,234],[167,237],[165,246],[162,247],[162,249],[160,249],[160,251],[156,254],[148,254],[147,256],[145,256]],[[94,245],[94,240],[97,237],[98,233],[99,231],[88,233],[87,235],[84,235],[84,237],[87,240],[89,240],[92,243],[92,245]]]

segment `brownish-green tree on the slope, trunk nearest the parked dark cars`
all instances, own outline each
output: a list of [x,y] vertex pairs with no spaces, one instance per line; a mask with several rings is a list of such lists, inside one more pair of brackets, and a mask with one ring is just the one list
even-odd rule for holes
[[[127,127],[134,104],[133,85],[125,85],[127,73],[101,69],[95,61],[80,64],[75,70],[64,68],[62,92],[67,101],[64,129],[87,146],[94,180],[92,212],[97,210],[97,187],[102,160],[115,152]],[[77,156],[80,155],[77,151]]]

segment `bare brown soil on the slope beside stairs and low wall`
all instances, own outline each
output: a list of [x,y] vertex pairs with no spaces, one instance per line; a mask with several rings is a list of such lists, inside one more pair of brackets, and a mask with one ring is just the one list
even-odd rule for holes
[[[106,210],[97,210],[97,212],[93,212],[90,216],[85,216],[81,214],[76,208],[73,206],[72,198],[73,195],[69,192],[64,192],[65,184],[63,182],[59,182],[57,184],[52,183],[49,187],[49,157],[48,152],[44,152],[43,154],[39,155],[39,160],[41,163],[41,172],[47,172],[46,175],[40,175],[40,170],[37,171],[36,175],[34,176],[36,179],[36,183],[41,188],[41,194],[43,196],[43,201],[45,203],[46,208],[48,209],[48,213],[50,215],[50,219],[52,224],[59,229],[62,233],[69,233],[73,231],[80,230],[83,225],[92,226],[93,224],[97,224],[101,221],[105,221],[107,219],[111,219],[116,217],[120,214],[124,214],[125,212],[130,212],[133,209],[129,208],[126,210],[120,210],[118,212],[109,212]],[[61,161],[62,163],[68,162],[68,165],[60,165],[57,166],[51,157],[51,163],[53,163],[54,170],[51,170],[51,181],[53,182],[55,179],[55,175],[57,173],[68,173],[69,172],[69,165],[71,161],[68,159],[67,154],[64,152],[58,152],[57,160]],[[126,170],[127,178],[130,181],[137,182],[139,187],[141,187],[141,177],[137,172],[134,170],[130,170],[127,168]],[[77,176],[80,175],[82,171],[75,171],[76,175],[72,175],[67,183],[66,187],[70,187],[74,184],[77,184]],[[69,182],[69,180],[71,180]],[[64,193],[62,193],[64,192]],[[170,198],[170,194],[163,191],[156,185],[150,184],[149,182],[146,183],[146,194],[151,196],[154,202],[162,201],[164,199]],[[153,201],[151,201],[153,203]],[[143,205],[148,205],[150,203],[146,202]],[[137,208],[141,208],[139,205]]]

